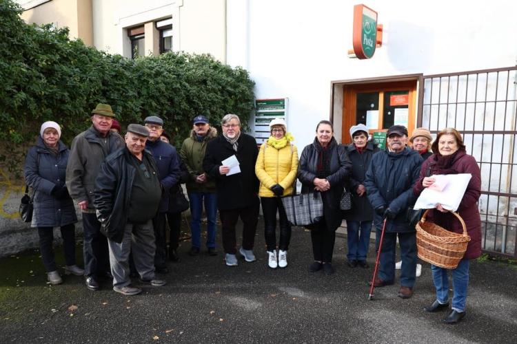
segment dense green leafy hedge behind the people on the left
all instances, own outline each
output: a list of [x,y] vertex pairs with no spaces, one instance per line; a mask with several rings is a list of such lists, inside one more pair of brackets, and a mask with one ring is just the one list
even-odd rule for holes
[[196,115],[217,127],[225,114],[237,114],[247,126],[254,82],[245,69],[183,52],[130,60],[70,41],[68,28],[28,25],[21,12],[0,0],[0,140],[6,142],[0,160],[10,162],[11,172],[24,152],[12,158],[6,152],[34,142],[42,122],[58,122],[70,144],[90,126],[97,103],[111,105],[123,128],[147,116],[163,118],[176,147]]

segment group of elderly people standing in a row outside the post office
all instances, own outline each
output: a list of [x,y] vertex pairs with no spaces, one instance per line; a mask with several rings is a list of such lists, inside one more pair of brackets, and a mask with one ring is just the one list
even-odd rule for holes
[[[369,140],[365,125],[350,128],[351,144],[338,144],[332,123],[322,120],[316,137],[298,159],[294,138],[283,119],[270,122],[270,138],[259,149],[252,136],[241,131],[238,116],[228,114],[221,120],[222,135],[217,136],[205,116],[196,116],[190,137],[179,153],[168,144],[163,120],[145,118],[144,125],[128,125],[122,138],[115,114],[109,105],[99,104],[92,111],[92,126],[72,141],[71,149],[59,140],[61,127],[56,122],[41,125],[41,137],[28,152],[24,174],[32,187],[34,217],[43,263],[50,283],[61,283],[52,252],[53,228],[61,227],[65,254],[65,273],[84,275],[90,290],[99,290],[99,279],[113,278],[113,289],[126,295],[139,294],[132,285],[130,266],[142,283],[163,286],[156,272],[167,273],[166,259],[180,261],[176,252],[181,213],[171,213],[171,193],[187,186],[192,213],[192,245],[189,255],[201,250],[203,204],[207,217],[207,253],[216,250],[216,214],[222,224],[223,250],[227,266],[237,259],[236,224],[243,222],[243,241],[239,253],[245,261],[255,261],[254,237],[260,206],[264,217],[267,264],[287,267],[291,224],[287,221],[282,198],[296,190],[319,192],[323,200],[320,222],[311,230],[314,261],[310,272],[334,272],[332,256],[336,230],[347,222],[347,264],[368,268],[367,251],[372,225],[377,242],[383,225],[381,268],[372,281],[376,287],[394,284],[396,241],[401,248],[401,287],[398,297],[412,297],[417,275],[417,248],[414,224],[408,219],[418,195],[434,182],[433,175],[471,173],[458,213],[469,235],[467,253],[452,270],[454,297],[452,312],[444,319],[454,323],[465,316],[468,285],[468,260],[480,255],[480,219],[476,202],[480,196],[480,172],[456,129],[440,131],[429,150],[432,136],[417,128],[408,138],[407,129],[394,125],[387,131],[387,148],[379,149]],[[114,123],[115,122],[115,123]],[[407,141],[412,142],[409,147]],[[237,162],[235,164],[235,162]],[[339,208],[343,191],[352,193],[354,208]],[[74,200],[83,213],[84,270],[75,264]],[[279,241],[276,241],[278,213]],[[428,220],[448,230],[462,230],[456,217],[439,204]],[[170,227],[167,249],[165,225]],[[278,245],[277,245],[278,242]],[[278,251],[277,251],[278,248]],[[447,270],[432,266],[436,301],[425,308],[436,312],[449,305]]]

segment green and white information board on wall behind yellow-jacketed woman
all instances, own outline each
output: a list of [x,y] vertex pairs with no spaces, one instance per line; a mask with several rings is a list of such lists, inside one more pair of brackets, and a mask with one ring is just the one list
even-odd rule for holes
[[289,98],[255,100],[255,140],[263,144],[270,138],[270,122],[274,118],[283,118],[287,123],[287,105]]

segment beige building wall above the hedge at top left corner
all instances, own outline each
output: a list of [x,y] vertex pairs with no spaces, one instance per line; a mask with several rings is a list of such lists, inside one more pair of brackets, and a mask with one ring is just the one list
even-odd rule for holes
[[70,39],[82,39],[93,45],[92,0],[52,0],[26,10],[21,18],[27,23],[57,23],[57,28],[68,26]]

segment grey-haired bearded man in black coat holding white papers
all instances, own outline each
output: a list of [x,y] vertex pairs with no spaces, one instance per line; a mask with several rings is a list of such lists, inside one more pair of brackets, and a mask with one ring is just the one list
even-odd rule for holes
[[[203,169],[216,181],[217,208],[223,224],[223,248],[226,265],[236,266],[235,226],[241,216],[243,244],[241,255],[245,261],[255,261],[253,246],[259,217],[259,179],[255,175],[255,162],[259,155],[256,140],[241,132],[241,120],[236,115],[226,115],[221,120],[223,135],[207,144]],[[227,158],[236,158],[239,165],[227,166]],[[225,164],[226,163],[226,164]]]

